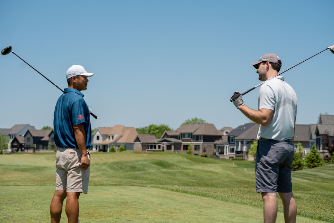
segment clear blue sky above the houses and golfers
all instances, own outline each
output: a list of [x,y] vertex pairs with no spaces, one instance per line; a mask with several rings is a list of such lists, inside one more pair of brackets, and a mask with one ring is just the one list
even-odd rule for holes
[[[251,63],[276,53],[284,71],[334,44],[333,0],[1,1],[0,48],[12,50],[64,89],[79,64],[85,100],[99,119],[176,129],[198,117],[216,128],[249,120],[229,101],[260,83]],[[326,50],[283,74],[298,97],[297,124],[334,114],[334,54]],[[13,53],[0,56],[0,128],[53,127],[61,92]],[[259,88],[244,95],[257,109]]]

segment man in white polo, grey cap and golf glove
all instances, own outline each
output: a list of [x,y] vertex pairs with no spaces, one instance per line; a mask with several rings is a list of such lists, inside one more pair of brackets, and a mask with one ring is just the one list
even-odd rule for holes
[[262,193],[264,202],[264,222],[276,221],[278,192],[283,201],[285,222],[295,223],[297,205],[292,193],[291,171],[297,95],[284,77],[277,76],[282,62],[276,54],[267,53],[252,65],[257,69],[259,80],[265,81],[259,90],[259,110],[244,105],[239,92],[234,92],[231,100],[246,117],[260,124],[255,178],[256,191]]

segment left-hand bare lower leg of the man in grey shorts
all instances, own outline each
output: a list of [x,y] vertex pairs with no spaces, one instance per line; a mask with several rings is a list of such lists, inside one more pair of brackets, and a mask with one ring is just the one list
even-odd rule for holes
[[264,204],[263,219],[265,223],[275,223],[277,217],[277,195],[276,193],[262,192]]

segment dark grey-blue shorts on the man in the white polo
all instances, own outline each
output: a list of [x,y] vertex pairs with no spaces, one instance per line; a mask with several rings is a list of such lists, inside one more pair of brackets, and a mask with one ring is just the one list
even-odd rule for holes
[[258,141],[255,167],[256,192],[292,192],[294,146],[291,140]]

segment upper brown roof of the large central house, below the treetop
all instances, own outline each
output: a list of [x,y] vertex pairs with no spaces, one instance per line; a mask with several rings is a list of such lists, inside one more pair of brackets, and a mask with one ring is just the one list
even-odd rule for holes
[[214,124],[185,124],[176,129],[175,132],[179,134],[192,133],[193,135],[223,135]]

